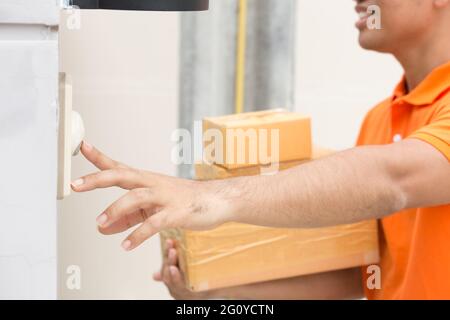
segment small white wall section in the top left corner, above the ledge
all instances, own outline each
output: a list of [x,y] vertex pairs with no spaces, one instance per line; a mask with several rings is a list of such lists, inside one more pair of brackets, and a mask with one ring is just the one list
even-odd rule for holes
[[0,23],[58,25],[59,3],[59,0],[1,0]]

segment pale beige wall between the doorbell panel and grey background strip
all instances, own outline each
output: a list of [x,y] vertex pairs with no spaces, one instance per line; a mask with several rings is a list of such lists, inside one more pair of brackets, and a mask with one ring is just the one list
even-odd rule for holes
[[[64,19],[64,17],[63,17]],[[87,140],[130,165],[174,174],[170,134],[177,126],[178,14],[84,11],[80,30],[61,26],[61,69],[73,76],[74,109]],[[76,178],[94,168],[74,160]],[[72,194],[59,203],[59,297],[161,299],[151,280],[160,265],[159,237],[132,253],[126,234],[105,237],[95,218],[124,191]],[[81,290],[68,290],[66,269],[81,268]]]

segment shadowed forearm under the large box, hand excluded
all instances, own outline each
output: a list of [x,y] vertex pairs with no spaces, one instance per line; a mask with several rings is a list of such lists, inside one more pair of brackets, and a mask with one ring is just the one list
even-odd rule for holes
[[359,268],[249,284],[212,291],[210,298],[249,300],[362,298]]

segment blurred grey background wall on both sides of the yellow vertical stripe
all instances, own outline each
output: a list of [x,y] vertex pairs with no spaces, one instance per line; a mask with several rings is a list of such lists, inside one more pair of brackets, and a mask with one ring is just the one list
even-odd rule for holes
[[[238,1],[211,0],[208,13],[182,13],[180,127],[235,111]],[[244,111],[294,107],[296,0],[248,0]],[[178,170],[192,177],[190,165]]]

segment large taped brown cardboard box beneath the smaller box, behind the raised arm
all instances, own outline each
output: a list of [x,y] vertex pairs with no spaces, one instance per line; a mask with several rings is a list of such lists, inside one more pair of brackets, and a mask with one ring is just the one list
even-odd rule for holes
[[[314,158],[331,151],[316,149]],[[280,164],[287,169],[301,162]],[[201,180],[258,174],[258,167],[226,170],[197,165]],[[192,291],[288,278],[377,263],[377,222],[320,229],[277,229],[228,223],[210,231],[171,230],[180,267]]]

